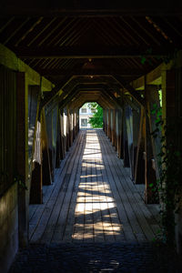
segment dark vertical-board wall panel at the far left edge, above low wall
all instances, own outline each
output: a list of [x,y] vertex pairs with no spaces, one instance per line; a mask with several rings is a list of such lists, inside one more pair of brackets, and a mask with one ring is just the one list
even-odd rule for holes
[[16,74],[0,66],[0,195],[16,174]]

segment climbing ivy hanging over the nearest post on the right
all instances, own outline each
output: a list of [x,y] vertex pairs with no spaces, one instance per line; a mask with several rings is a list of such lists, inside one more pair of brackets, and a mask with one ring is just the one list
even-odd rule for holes
[[[182,200],[182,151],[177,147],[177,134],[181,128],[181,120],[163,120],[161,107],[154,105],[151,114],[156,115],[156,129],[152,136],[159,137],[161,148],[158,153],[159,179],[157,186],[150,184],[157,190],[162,206],[162,237],[163,241],[172,246],[175,242],[175,213],[179,212]],[[161,134],[162,132],[162,134]]]

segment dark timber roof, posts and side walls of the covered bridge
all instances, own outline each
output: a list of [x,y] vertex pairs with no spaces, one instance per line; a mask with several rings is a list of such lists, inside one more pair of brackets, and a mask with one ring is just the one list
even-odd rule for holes
[[[7,1],[8,3],[8,1]],[[11,3],[10,3],[11,4]],[[159,202],[154,106],[181,118],[182,12],[178,8],[14,8],[0,17],[0,245],[6,271],[28,243],[28,206],[79,133],[79,108],[97,102],[103,130],[146,204]],[[67,4],[68,5],[68,4]],[[96,5],[96,3],[95,3]],[[181,129],[177,136],[182,146]],[[180,251],[182,217],[177,216]],[[3,272],[4,272],[3,271]]]

